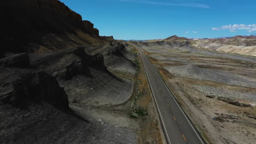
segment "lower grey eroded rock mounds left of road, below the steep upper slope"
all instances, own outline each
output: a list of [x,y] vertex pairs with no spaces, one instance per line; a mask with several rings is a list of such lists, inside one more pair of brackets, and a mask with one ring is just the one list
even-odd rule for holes
[[69,109],[70,103],[111,106],[130,98],[133,82],[108,70],[135,73],[122,43],[0,59],[0,143],[135,142],[135,132],[80,118]]

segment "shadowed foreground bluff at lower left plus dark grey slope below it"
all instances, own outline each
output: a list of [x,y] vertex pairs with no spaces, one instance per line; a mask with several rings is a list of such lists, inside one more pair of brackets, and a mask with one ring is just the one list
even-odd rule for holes
[[0,70],[0,119],[0,143],[69,143],[92,127],[69,110],[56,79],[34,69]]

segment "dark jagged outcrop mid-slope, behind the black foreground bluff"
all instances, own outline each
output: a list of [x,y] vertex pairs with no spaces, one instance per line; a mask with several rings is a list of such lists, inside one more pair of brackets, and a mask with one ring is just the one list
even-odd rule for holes
[[[53,55],[53,57],[57,58],[55,55]],[[61,62],[61,64],[59,62]],[[76,47],[75,49],[68,50],[66,54],[59,59],[59,62],[52,63],[54,67],[45,67],[45,69],[54,77],[61,80],[70,80],[77,75],[90,77],[89,67],[107,72],[103,56],[100,53],[89,55],[85,53],[85,47]]]

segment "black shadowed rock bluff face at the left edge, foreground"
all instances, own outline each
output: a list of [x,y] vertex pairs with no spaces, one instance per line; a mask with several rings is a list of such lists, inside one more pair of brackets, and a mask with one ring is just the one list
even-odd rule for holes
[[0,73],[0,101],[26,109],[28,101],[47,101],[68,108],[65,91],[56,79],[42,70],[4,68]]

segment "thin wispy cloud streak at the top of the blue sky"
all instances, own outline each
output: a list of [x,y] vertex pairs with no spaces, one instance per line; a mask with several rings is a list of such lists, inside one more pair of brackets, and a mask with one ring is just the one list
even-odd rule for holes
[[133,2],[133,3],[146,3],[146,4],[157,4],[157,5],[170,5],[174,7],[192,7],[192,8],[211,8],[209,5],[206,4],[176,4],[176,3],[161,3],[161,2],[150,2],[150,1],[135,1],[135,0],[121,0],[123,2]]

